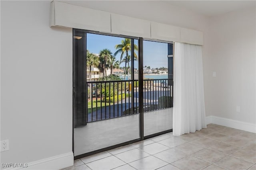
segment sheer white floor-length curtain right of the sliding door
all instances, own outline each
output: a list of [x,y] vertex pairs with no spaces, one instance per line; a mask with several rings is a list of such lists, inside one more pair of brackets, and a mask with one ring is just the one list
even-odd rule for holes
[[173,135],[206,128],[202,47],[174,43]]

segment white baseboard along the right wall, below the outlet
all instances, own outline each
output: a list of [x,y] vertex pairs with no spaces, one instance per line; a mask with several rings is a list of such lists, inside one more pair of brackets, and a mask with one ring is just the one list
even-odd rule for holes
[[207,116],[205,120],[207,125],[210,123],[213,123],[216,125],[221,125],[221,126],[231,127],[234,129],[239,129],[242,131],[256,133],[256,124],[253,124],[253,123],[247,123],[244,121],[227,119],[227,118],[218,117],[218,116]]

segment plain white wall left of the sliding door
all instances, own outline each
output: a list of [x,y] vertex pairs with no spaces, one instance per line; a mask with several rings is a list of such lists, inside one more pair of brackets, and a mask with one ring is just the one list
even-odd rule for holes
[[50,1],[1,1],[1,163],[72,152],[72,29],[49,16]]

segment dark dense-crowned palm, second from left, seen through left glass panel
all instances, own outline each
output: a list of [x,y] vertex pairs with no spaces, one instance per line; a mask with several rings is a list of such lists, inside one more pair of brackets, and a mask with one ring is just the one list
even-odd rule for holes
[[109,49],[103,49],[100,51],[100,70],[102,71],[103,77],[105,77],[107,74],[107,68],[109,67],[108,60],[111,54],[112,53]]

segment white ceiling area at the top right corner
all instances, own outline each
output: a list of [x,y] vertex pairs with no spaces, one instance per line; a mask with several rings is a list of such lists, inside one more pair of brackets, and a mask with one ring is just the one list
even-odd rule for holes
[[165,2],[206,16],[217,16],[256,6],[255,0],[168,0]]

